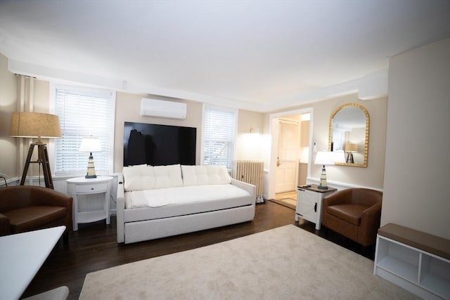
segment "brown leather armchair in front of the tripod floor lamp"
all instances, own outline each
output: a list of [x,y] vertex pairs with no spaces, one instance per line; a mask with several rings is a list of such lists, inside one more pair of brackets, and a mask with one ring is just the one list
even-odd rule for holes
[[65,226],[72,230],[72,197],[50,188],[16,185],[0,188],[0,236]]

